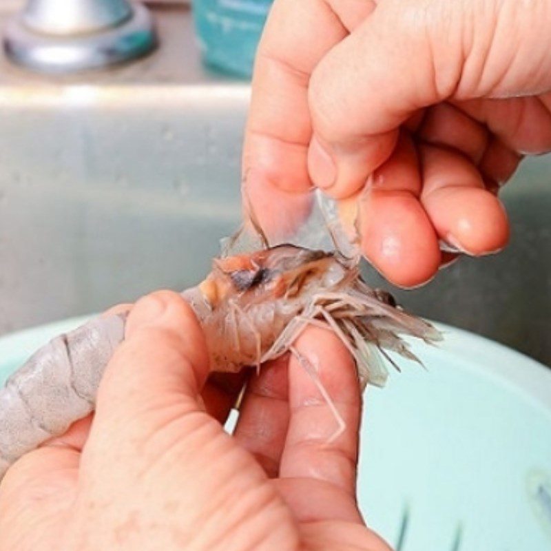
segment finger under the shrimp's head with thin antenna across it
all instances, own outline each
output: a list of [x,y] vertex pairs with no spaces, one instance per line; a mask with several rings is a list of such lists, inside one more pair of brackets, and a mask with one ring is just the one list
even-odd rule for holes
[[[305,331],[289,362],[289,431],[280,477],[329,482],[355,495],[362,399],[349,351],[329,329]],[[308,373],[309,362],[315,373]],[[313,379],[318,380],[315,384]],[[332,404],[320,393],[320,385]],[[336,411],[335,411],[336,410]],[[338,434],[337,415],[343,422]]]

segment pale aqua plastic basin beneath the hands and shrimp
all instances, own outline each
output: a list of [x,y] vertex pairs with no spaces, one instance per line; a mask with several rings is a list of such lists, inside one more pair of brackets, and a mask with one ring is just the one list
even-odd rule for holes
[[[0,338],[5,380],[41,344],[86,318]],[[551,550],[551,370],[441,326],[366,393],[359,499],[400,551]]]

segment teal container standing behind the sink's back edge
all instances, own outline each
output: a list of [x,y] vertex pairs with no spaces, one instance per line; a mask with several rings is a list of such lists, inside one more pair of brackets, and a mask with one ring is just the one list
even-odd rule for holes
[[219,70],[250,77],[272,0],[194,0],[202,57]]

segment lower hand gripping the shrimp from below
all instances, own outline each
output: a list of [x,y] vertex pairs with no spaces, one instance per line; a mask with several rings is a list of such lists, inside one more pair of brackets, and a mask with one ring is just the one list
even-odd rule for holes
[[296,343],[346,422],[298,362],[240,388],[207,381],[205,341],[166,291],[136,303],[107,366],[94,419],[17,461],[0,485],[0,550],[389,551],[355,503],[360,391],[355,366],[324,329]]

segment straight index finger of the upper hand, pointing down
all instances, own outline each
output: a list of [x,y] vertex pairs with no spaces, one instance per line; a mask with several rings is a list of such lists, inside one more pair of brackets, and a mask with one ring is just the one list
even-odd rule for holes
[[[326,52],[371,10],[371,1],[275,1],[253,75],[242,163],[245,193],[249,182],[256,189],[275,186],[287,194],[310,189],[307,152],[312,134],[308,106],[311,73]],[[270,209],[257,205],[254,197],[250,199],[264,226]],[[291,197],[288,199],[293,202]],[[278,195],[278,201],[287,202],[285,194]],[[284,211],[293,211],[282,206]]]

